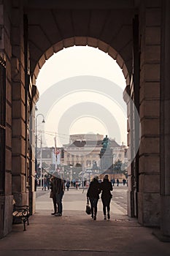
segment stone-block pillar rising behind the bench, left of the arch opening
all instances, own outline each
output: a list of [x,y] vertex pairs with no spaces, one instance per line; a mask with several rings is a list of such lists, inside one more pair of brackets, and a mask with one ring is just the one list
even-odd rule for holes
[[12,1],[12,194],[28,204],[26,165],[26,99],[22,1]]

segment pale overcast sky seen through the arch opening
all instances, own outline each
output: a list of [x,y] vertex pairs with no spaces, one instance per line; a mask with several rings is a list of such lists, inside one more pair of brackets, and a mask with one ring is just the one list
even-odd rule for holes
[[96,48],[66,48],[48,59],[36,80],[37,131],[43,146],[69,142],[69,135],[98,133],[126,144],[125,78],[116,61]]

